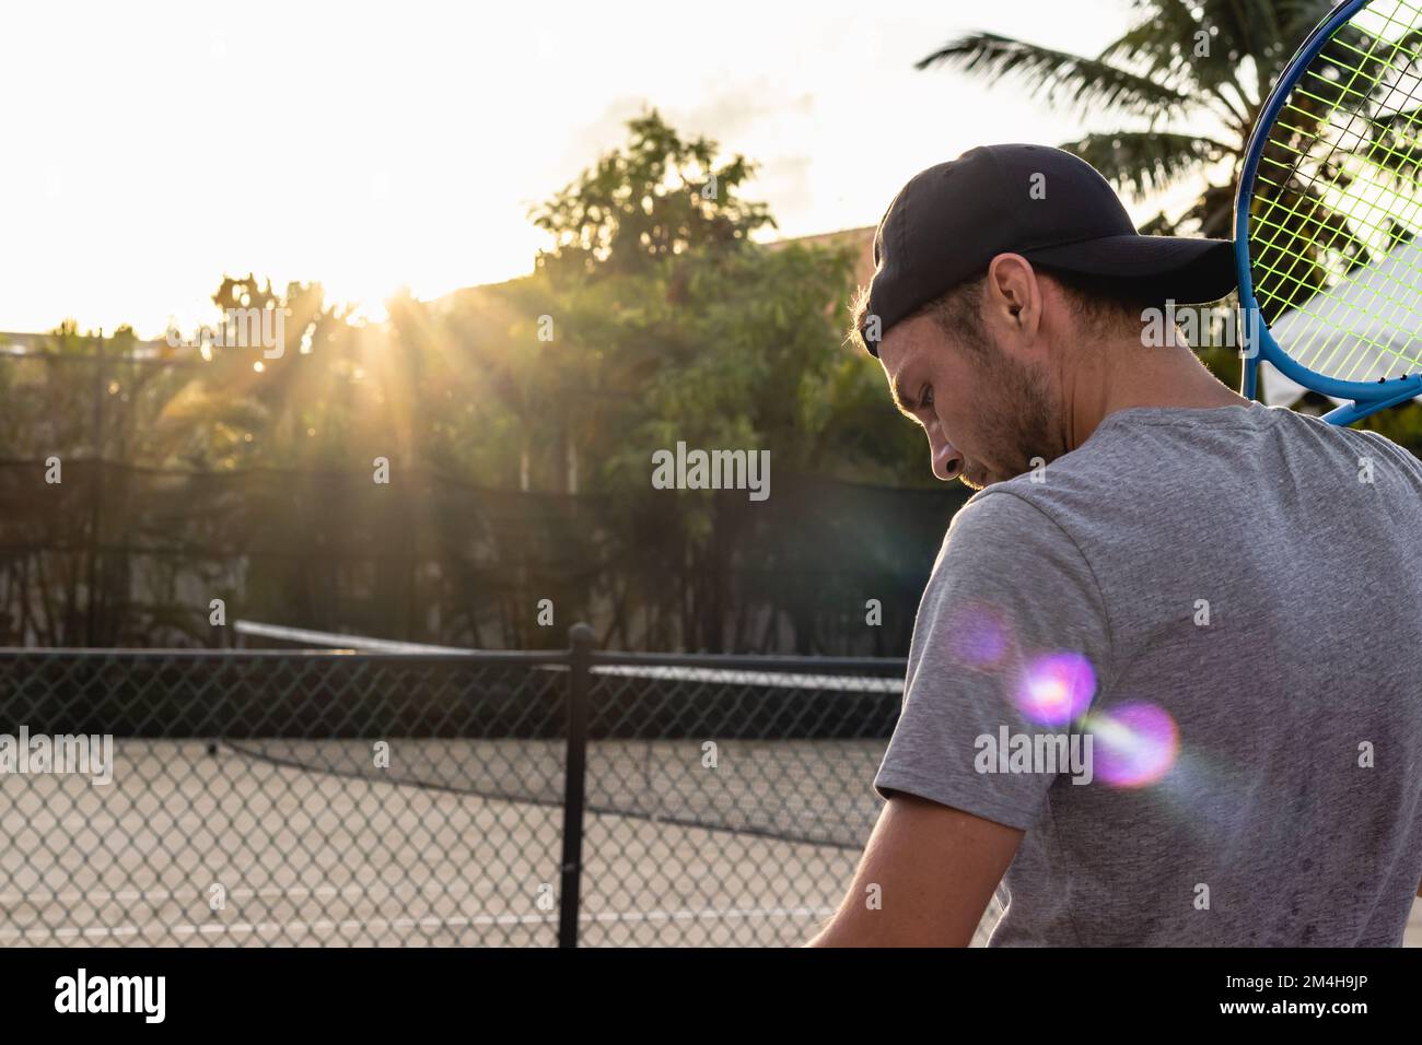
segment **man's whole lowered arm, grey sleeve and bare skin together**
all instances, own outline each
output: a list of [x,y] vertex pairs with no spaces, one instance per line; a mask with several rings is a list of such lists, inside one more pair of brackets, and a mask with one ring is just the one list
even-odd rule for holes
[[1058,776],[983,772],[978,738],[1041,731],[1020,682],[1035,658],[1059,650],[1112,678],[1095,573],[1051,516],[988,488],[953,518],[933,564],[903,707],[873,782],[886,805],[849,896],[812,945],[971,943]]

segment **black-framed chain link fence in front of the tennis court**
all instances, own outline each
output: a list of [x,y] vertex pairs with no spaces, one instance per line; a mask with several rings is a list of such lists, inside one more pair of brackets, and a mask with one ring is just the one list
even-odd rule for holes
[[799,944],[903,670],[0,651],[0,944]]

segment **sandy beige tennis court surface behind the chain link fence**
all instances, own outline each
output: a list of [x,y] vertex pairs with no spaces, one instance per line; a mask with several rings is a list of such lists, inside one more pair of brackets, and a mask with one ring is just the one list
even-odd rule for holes
[[[454,763],[449,742],[417,744],[438,748],[422,751],[427,762]],[[311,758],[314,746],[282,754]],[[324,756],[340,766],[347,752]],[[392,756],[407,754],[397,742]],[[506,756],[512,773],[556,761],[552,745],[485,754]],[[869,745],[818,756],[872,775]],[[725,772],[742,755],[732,742],[721,758],[722,768],[701,769],[693,745],[687,773]],[[644,813],[584,813],[580,944],[795,944],[842,899],[856,849],[774,837],[749,823],[697,826],[694,815],[675,822],[658,799],[685,793],[671,751],[648,758],[594,745],[590,775],[599,763],[651,789],[623,803]],[[4,779],[4,945],[557,941],[560,805],[313,772],[228,745],[209,755],[199,742],[121,742],[114,769],[107,786]],[[751,796],[766,782],[755,776],[718,786]],[[809,783],[803,771],[801,779]],[[860,805],[872,818],[873,799]]]

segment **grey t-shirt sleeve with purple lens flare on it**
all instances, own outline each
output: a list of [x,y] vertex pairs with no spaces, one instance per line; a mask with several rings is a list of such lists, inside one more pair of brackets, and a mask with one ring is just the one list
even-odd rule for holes
[[1076,543],[1024,498],[988,488],[939,550],[875,791],[1027,830],[1068,768],[1012,771],[1001,749],[1076,731],[1109,674],[1111,626]]

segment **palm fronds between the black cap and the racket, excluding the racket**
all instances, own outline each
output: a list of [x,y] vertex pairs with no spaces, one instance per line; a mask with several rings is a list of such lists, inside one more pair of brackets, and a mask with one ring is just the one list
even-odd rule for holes
[[1135,0],[1135,24],[1095,58],[971,33],[916,68],[1015,77],[1048,104],[1119,118],[1122,129],[1061,148],[1135,196],[1203,181],[1183,215],[1160,213],[1142,232],[1227,239],[1254,119],[1283,65],[1331,7],[1331,0]]

